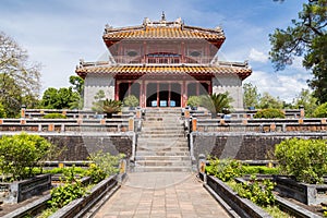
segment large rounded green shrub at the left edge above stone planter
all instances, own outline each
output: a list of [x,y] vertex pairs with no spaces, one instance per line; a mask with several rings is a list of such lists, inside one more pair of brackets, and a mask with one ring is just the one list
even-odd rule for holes
[[39,135],[21,133],[0,138],[2,174],[22,180],[33,175],[33,168],[51,152],[51,144]]

